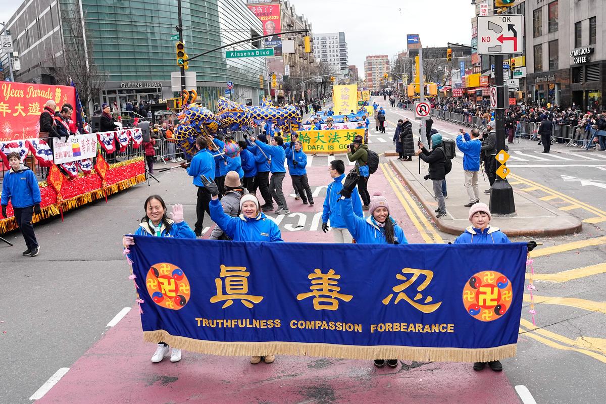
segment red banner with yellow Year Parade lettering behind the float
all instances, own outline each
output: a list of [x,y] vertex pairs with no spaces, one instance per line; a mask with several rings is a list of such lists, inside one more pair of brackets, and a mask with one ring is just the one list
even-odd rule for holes
[[2,82],[0,88],[0,141],[33,139],[40,133],[40,113],[48,100],[61,105],[72,104],[76,121],[76,88],[67,85],[47,85]]

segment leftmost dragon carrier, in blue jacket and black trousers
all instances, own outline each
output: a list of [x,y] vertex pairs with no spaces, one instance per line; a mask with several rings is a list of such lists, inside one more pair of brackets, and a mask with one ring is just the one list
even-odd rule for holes
[[[215,157],[208,150],[208,142],[204,136],[199,136],[196,139],[196,153],[191,159],[190,166],[187,167],[187,163],[182,162],[181,167],[187,169],[187,174],[193,177],[193,185],[198,187],[198,200],[196,202],[196,224],[194,225],[193,232],[196,233],[197,237],[202,236],[202,228],[204,228],[204,212],[210,214],[208,208],[208,202],[210,202],[210,192],[202,184],[201,175],[205,175],[207,178],[215,179]],[[216,157],[219,158],[219,157]],[[221,163],[222,164],[222,163]]]

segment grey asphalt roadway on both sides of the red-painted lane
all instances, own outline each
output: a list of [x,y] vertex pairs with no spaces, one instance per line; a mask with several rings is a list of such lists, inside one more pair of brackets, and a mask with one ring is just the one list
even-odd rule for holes
[[[382,102],[382,98],[380,101],[386,107],[387,102]],[[375,133],[374,128],[370,130],[370,147],[378,153],[393,150],[391,138],[397,119],[402,115],[412,116],[411,111],[386,109],[390,122],[388,133],[381,135]],[[435,121],[434,127],[444,136],[453,137],[458,131],[456,125]],[[418,133],[416,122],[414,125]],[[600,167],[606,164],[606,159],[598,157],[599,152],[585,154],[554,145],[552,151],[557,154],[553,156],[570,160],[538,155],[549,159],[544,161],[534,156],[538,149],[536,143],[528,141],[511,145],[511,151],[522,153],[512,153],[513,156],[527,160],[513,159],[509,164],[513,173],[570,198],[549,199],[554,206],[569,207],[577,204],[576,200],[579,208],[568,210],[571,214],[582,219],[600,217],[600,212],[606,210],[602,187],[588,184],[587,180],[603,184]],[[325,166],[329,158],[335,157],[316,156],[311,167]],[[571,180],[572,177],[584,179],[585,185]],[[121,236],[137,228],[144,214],[142,202],[149,194],[161,194],[167,204],[184,204],[185,220],[190,224],[195,222],[195,189],[190,178],[181,170],[168,171],[158,178],[160,184],[138,185],[110,197],[108,204],[99,200],[68,212],[64,222],[53,219],[36,226],[41,243],[38,257],[21,257],[24,248],[18,232],[4,235],[16,247],[0,245],[0,274],[4,281],[4,293],[0,294],[0,320],[3,321],[0,340],[4,351],[0,359],[0,403],[30,402],[29,397],[50,376],[59,368],[72,366],[102,337],[108,330],[108,322],[119,311],[133,306],[135,297],[132,282],[127,278],[129,268],[121,253]],[[375,182],[372,188],[389,186],[387,182]],[[449,187],[456,185],[449,184]],[[523,181],[514,187],[531,188]],[[322,187],[315,187],[315,191],[318,195],[325,192]],[[528,192],[537,197],[550,196],[540,187]],[[304,236],[305,231],[318,230],[315,216],[310,210],[299,216],[285,217],[280,227],[284,232],[301,232],[297,234]],[[504,361],[505,374],[511,384],[527,386],[538,403],[606,402],[603,388],[606,306],[601,286],[606,281],[603,268],[606,238],[599,238],[605,235],[600,226],[606,222],[596,220],[584,223],[580,234],[539,240],[545,243],[543,248],[554,249],[534,259],[536,273],[544,276],[544,280],[534,282],[535,294],[537,298],[552,299],[536,305],[538,329],[531,325],[528,306],[525,306],[518,356]],[[209,218],[205,224],[210,227]],[[452,239],[450,235],[440,234],[446,240]],[[570,243],[590,244],[592,240],[596,245],[567,250]],[[581,270],[564,273],[576,268]],[[554,275],[550,278],[550,274]]]

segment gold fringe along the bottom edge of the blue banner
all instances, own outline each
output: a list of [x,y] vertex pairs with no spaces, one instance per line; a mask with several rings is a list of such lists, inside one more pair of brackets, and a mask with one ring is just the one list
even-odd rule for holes
[[171,336],[158,329],[144,331],[145,342],[165,342],[189,352],[221,356],[320,356],[344,359],[373,360],[397,358],[419,362],[490,362],[516,356],[516,344],[495,348],[425,348],[418,346],[357,346],[302,342],[216,342]]

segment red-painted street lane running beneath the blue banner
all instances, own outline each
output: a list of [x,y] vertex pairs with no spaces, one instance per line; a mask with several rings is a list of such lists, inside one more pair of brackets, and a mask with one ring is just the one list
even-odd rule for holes
[[[331,182],[326,167],[309,167],[308,176],[312,190]],[[291,192],[290,180],[284,188],[285,193]],[[375,191],[387,197],[390,213],[409,242],[422,242],[381,169],[370,179],[369,192]],[[324,191],[315,198],[314,207],[290,198],[290,211],[313,217],[322,210],[323,196]],[[282,236],[288,242],[332,241],[321,225],[316,228],[282,230]],[[181,362],[171,363],[165,357],[151,363],[154,349],[153,344],[142,341],[135,305],[38,402],[379,403],[398,397],[398,401],[411,403],[519,403],[504,373],[474,372],[470,363],[402,360],[395,369],[378,369],[364,360],[278,356],[270,365],[251,365],[248,357],[185,351]]]

